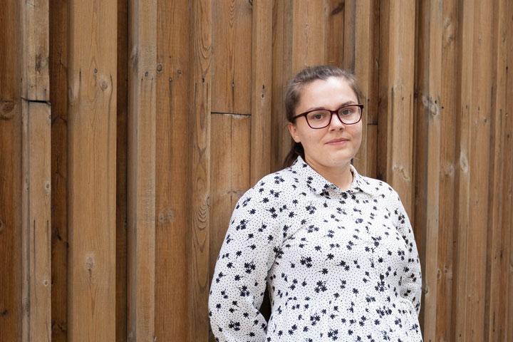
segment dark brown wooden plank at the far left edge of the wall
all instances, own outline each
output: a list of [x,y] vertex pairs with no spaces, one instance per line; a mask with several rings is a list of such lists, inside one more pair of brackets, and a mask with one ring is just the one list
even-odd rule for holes
[[0,12],[0,341],[21,341],[21,3]]

